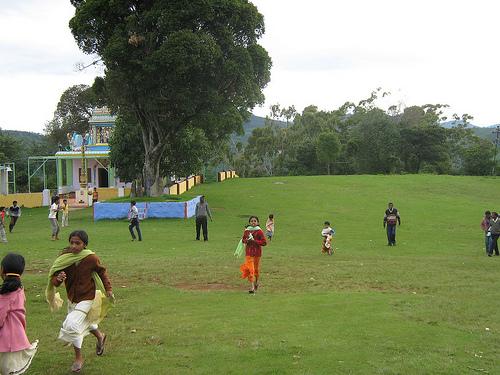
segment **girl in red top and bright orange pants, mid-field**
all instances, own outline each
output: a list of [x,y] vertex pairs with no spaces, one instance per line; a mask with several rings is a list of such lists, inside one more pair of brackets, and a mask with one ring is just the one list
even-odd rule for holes
[[245,244],[245,263],[240,266],[241,278],[248,279],[251,284],[251,289],[248,291],[254,294],[259,287],[259,265],[260,257],[262,256],[262,246],[266,246],[266,237],[264,232],[259,227],[259,218],[250,216],[248,225],[243,232],[241,239]]

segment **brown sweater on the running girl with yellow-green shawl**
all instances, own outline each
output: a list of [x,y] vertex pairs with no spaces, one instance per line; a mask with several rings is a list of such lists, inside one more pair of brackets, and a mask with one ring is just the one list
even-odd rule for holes
[[94,271],[101,278],[106,291],[112,291],[106,268],[101,265],[99,257],[95,254],[83,258],[78,265],[73,263],[71,266],[52,275],[52,284],[55,286],[62,284],[57,280],[57,275],[62,271],[66,273],[65,286],[68,299],[73,303],[89,301],[95,298],[96,288],[94,279],[92,279],[92,272]]

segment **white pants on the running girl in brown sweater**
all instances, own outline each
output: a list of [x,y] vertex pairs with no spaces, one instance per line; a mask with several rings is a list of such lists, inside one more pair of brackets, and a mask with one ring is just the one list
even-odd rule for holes
[[71,303],[68,301],[68,315],[63,322],[63,326],[59,331],[59,339],[73,344],[74,347],[80,349],[82,347],[83,338],[90,331],[97,329],[97,324],[90,324],[87,319],[87,314],[92,307],[94,301],[82,301]]

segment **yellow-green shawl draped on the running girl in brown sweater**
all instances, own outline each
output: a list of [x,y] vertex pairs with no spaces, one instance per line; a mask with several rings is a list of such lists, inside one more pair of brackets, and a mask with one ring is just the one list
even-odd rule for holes
[[[50,267],[47,288],[45,289],[45,298],[49,303],[50,310],[52,312],[57,311],[63,305],[63,300],[59,293],[56,293],[56,287],[52,284],[52,276],[62,271],[63,269],[71,266],[73,263],[78,264],[82,261],[82,259],[88,257],[89,255],[95,254],[93,251],[84,249],[77,254],[74,253],[64,253],[61,254],[55,261],[52,267]],[[104,284],[97,274],[97,272],[92,272],[92,279],[94,280],[96,286],[96,293],[94,302],[92,304],[92,308],[90,309],[87,317],[88,319],[95,324],[98,324],[104,317],[106,316],[108,310],[114,304],[114,301],[110,300],[106,296],[106,289],[104,288]]]

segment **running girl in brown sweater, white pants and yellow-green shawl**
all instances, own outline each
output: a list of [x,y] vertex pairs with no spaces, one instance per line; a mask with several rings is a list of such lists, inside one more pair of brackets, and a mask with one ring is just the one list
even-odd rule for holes
[[51,310],[62,306],[56,287],[65,284],[68,296],[68,315],[59,332],[59,339],[73,345],[75,360],[72,372],[80,372],[83,366],[83,338],[91,333],[97,339],[96,354],[104,353],[106,335],[98,324],[114,303],[111,282],[106,268],[93,251],[86,249],[87,233],[77,230],[69,235],[69,247],[63,250],[49,271],[45,296]]

